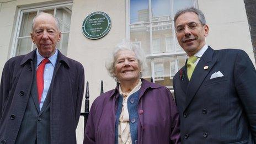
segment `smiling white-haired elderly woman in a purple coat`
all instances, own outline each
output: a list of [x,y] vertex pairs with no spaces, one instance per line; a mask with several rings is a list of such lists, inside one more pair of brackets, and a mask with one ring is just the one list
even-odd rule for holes
[[84,143],[180,143],[172,94],[141,78],[145,63],[136,45],[122,42],[116,46],[106,68],[119,83],[94,100]]

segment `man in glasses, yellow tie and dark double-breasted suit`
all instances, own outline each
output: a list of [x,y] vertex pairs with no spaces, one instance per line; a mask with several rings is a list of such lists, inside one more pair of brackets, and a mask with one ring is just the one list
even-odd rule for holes
[[246,52],[213,50],[204,14],[179,10],[175,31],[188,60],[173,79],[182,143],[254,143],[256,72]]

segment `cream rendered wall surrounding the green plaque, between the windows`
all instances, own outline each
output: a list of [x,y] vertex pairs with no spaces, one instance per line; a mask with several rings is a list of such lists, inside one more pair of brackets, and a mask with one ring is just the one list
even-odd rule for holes
[[[82,34],[82,23],[87,15],[95,11],[107,13],[112,26],[103,38],[90,40]],[[85,68],[86,81],[89,81],[90,105],[100,94],[101,80],[104,81],[104,92],[115,88],[116,82],[107,73],[105,61],[122,39],[125,39],[125,1],[73,1],[67,56],[81,62]],[[81,117],[77,128],[78,143],[83,140],[83,120]]]

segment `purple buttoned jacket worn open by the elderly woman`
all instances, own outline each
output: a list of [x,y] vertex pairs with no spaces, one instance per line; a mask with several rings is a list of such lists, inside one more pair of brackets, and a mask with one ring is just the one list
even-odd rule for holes
[[[114,143],[118,87],[96,98],[83,143]],[[138,143],[180,143],[179,115],[170,91],[142,79],[138,102]]]

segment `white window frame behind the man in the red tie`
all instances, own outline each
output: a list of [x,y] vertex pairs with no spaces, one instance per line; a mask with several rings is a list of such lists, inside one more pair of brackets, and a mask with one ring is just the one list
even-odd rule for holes
[[[73,1],[39,4],[38,6],[29,6],[29,7],[19,8],[18,14],[17,14],[17,20],[15,22],[15,29],[14,29],[13,40],[12,40],[12,47],[11,47],[9,56],[14,57],[16,55],[17,44],[18,44],[19,39],[30,38],[30,36],[19,36],[20,26],[22,24],[23,13],[37,11],[37,14],[38,14],[40,12],[40,10],[54,9],[54,15],[56,15],[56,9],[59,8],[59,7],[65,7],[65,6],[72,6],[73,7]],[[62,32],[62,34],[67,34],[67,33],[70,33],[70,31],[63,31]],[[31,44],[31,50],[34,49],[33,47],[34,47],[34,44],[32,43]]]

